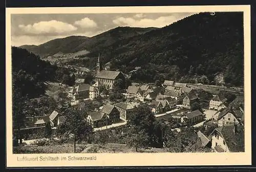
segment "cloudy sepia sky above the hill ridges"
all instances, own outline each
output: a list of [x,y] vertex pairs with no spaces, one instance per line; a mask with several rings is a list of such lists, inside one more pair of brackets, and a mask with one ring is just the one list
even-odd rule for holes
[[71,35],[92,37],[119,26],[162,28],[193,14],[12,14],[12,45],[39,45]]

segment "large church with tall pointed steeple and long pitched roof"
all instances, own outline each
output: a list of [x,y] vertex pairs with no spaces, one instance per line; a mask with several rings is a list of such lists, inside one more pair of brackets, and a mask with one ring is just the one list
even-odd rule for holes
[[95,82],[98,82],[99,84],[104,85],[107,89],[112,89],[114,83],[118,79],[124,80],[124,76],[120,71],[111,71],[106,69],[103,70],[99,57],[98,57],[98,62],[96,64],[96,72],[97,72],[97,75],[95,77]]

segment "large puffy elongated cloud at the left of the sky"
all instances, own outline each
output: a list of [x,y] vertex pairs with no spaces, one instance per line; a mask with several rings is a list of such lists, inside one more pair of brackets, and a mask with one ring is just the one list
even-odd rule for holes
[[33,25],[28,24],[27,26],[19,24],[18,28],[28,35],[58,35],[67,34],[77,30],[72,24],[56,20],[40,21]]

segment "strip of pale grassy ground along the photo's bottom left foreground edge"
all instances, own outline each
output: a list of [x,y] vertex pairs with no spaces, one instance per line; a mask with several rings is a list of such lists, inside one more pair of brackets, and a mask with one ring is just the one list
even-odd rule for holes
[[[166,153],[167,149],[151,148],[138,149],[137,153]],[[14,154],[44,154],[44,153],[74,153],[73,144],[49,146],[16,146],[13,147]],[[99,144],[76,144],[76,153],[136,153],[135,148],[130,148],[126,144],[107,143]]]

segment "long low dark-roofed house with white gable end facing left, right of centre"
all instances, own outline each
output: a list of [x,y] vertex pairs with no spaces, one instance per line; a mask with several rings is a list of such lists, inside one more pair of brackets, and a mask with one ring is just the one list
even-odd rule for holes
[[203,113],[200,110],[188,112],[181,117],[181,122],[188,125],[198,124],[204,118]]

